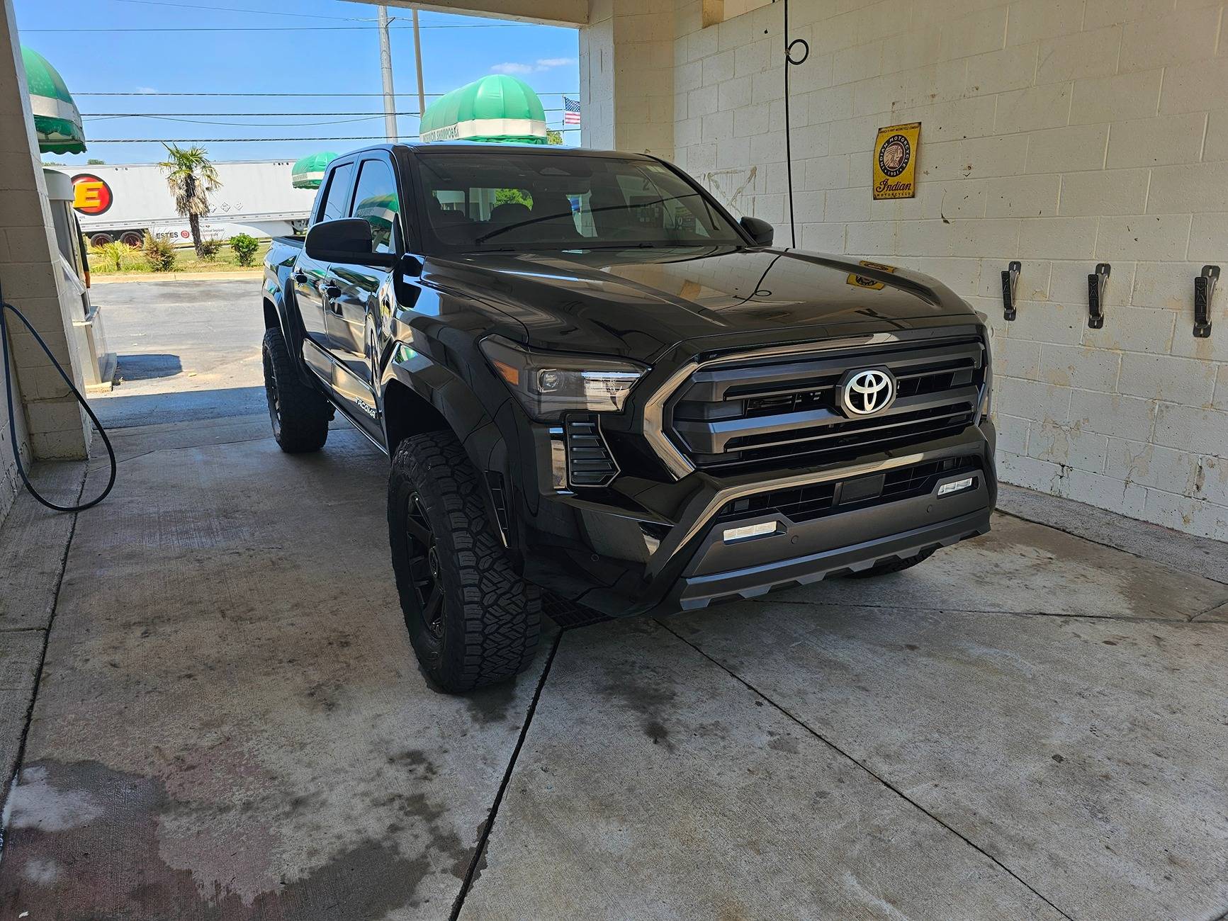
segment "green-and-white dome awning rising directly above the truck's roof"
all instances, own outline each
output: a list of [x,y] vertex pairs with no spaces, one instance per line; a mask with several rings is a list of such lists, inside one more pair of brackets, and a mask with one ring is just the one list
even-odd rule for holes
[[533,87],[495,74],[442,96],[422,114],[424,141],[548,144],[545,111]]

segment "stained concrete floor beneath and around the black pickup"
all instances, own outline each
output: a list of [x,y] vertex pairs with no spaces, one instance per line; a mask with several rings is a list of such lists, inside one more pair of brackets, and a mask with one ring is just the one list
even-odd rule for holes
[[112,348],[184,368],[97,400],[113,496],[0,527],[0,920],[1224,916],[1222,545],[1000,515],[905,573],[554,632],[441,696],[386,460],[345,429],[278,451],[239,393],[251,282],[189,284],[108,287]]

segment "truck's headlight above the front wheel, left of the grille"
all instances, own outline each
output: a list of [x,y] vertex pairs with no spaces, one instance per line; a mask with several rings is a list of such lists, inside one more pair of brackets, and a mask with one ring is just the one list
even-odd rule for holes
[[539,421],[571,409],[618,413],[648,371],[631,361],[529,351],[499,335],[486,336],[480,346],[495,373]]

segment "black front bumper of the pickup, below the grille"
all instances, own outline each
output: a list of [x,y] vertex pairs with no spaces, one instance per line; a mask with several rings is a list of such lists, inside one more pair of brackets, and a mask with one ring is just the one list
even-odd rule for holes
[[[549,438],[535,452],[549,458]],[[997,499],[995,432],[984,420],[955,436],[804,470],[713,478],[691,473],[673,484],[620,476],[614,489],[550,489],[516,510],[526,577],[607,616],[666,614],[715,600],[750,598],[842,571],[912,556],[990,529]],[[768,492],[866,480],[935,460],[958,460],[921,495],[835,503],[820,517],[793,521],[765,511],[739,516],[729,503]],[[968,475],[973,486],[938,496]],[[775,528],[727,543],[725,530],[771,522]]]

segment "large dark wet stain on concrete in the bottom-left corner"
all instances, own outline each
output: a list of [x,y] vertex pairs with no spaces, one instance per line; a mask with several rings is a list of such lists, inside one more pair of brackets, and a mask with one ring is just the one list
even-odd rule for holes
[[[418,887],[432,872],[432,853],[446,855],[458,878],[472,853],[442,825],[441,807],[422,795],[394,798],[402,814],[425,823],[427,841],[419,855],[405,856],[391,840],[366,839],[311,868],[276,868],[275,888],[238,893],[221,880],[198,880],[190,868],[166,861],[161,819],[179,804],[160,780],[96,761],[39,761],[22,771],[11,801],[0,863],[0,917],[32,910],[56,921],[383,917],[400,906],[419,906]],[[309,799],[303,797],[297,808],[309,808]],[[228,822],[233,825],[233,817]],[[233,860],[249,861],[253,855],[243,846],[242,829],[232,831]]]

